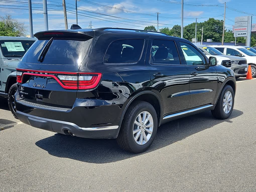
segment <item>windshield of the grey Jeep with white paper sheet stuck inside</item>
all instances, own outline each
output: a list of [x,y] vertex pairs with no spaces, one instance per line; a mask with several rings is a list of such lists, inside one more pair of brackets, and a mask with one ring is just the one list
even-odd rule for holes
[[1,40],[0,47],[4,57],[23,57],[35,40]]

